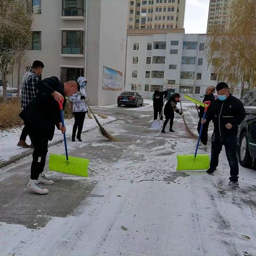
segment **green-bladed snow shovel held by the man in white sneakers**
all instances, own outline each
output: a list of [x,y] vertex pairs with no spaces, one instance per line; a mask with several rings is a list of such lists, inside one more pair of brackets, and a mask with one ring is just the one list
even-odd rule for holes
[[[63,101],[59,102],[61,123],[62,126],[65,126],[62,104]],[[88,177],[87,167],[89,165],[90,160],[81,157],[68,156],[66,133],[63,133],[63,138],[66,156],[51,154],[49,159],[49,170]]]

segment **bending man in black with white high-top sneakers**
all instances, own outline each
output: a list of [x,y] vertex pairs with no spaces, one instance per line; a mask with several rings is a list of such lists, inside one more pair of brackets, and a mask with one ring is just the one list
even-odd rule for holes
[[62,127],[61,123],[59,102],[63,102],[65,106],[65,97],[79,91],[80,86],[76,81],[61,83],[57,77],[53,76],[39,81],[35,87],[38,90],[36,98],[19,115],[27,125],[29,137],[34,145],[27,188],[37,194],[47,194],[49,190],[43,188],[42,184],[54,183],[43,173],[48,141],[53,138],[55,126],[62,133],[66,131],[66,127]]

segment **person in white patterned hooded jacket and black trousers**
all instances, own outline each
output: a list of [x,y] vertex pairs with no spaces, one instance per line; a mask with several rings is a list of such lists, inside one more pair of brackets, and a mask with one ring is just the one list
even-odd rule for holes
[[[82,141],[81,133],[84,126],[85,114],[88,112],[86,102],[87,95],[85,92],[85,85],[87,80],[85,77],[79,76],[77,82],[80,85],[80,91],[71,95],[68,99],[73,102],[73,113],[75,117],[75,123],[73,125],[72,141],[75,142],[75,137],[78,141]],[[77,130],[77,136],[76,136]]]

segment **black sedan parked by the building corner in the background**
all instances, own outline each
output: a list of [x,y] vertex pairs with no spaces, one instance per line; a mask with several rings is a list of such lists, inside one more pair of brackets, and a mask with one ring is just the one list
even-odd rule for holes
[[117,106],[121,107],[122,105],[143,106],[143,98],[138,92],[122,92],[117,97]]

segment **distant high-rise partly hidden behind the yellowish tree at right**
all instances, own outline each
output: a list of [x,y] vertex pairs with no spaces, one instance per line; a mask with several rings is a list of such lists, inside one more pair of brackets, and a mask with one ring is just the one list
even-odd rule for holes
[[207,31],[214,24],[221,24],[228,28],[231,2],[232,0],[210,0]]

